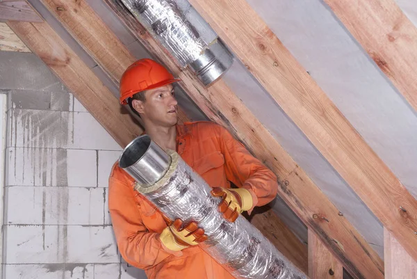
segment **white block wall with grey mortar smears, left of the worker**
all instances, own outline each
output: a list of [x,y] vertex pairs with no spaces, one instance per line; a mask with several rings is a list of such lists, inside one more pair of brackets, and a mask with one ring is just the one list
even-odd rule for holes
[[120,146],[33,54],[4,61],[3,279],[146,278],[121,259],[108,214]]

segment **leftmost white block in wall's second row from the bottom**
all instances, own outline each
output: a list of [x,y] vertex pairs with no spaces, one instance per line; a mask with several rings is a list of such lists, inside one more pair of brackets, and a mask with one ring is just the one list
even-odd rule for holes
[[5,264],[58,264],[67,255],[66,227],[56,225],[5,225]]

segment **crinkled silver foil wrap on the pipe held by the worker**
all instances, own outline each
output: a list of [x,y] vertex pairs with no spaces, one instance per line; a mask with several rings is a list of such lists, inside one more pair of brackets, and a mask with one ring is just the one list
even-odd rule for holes
[[171,220],[196,221],[208,239],[202,249],[236,278],[307,278],[243,216],[234,223],[218,211],[221,201],[211,187],[186,164],[179,154],[169,152],[172,163],[167,173],[150,187],[136,190]]

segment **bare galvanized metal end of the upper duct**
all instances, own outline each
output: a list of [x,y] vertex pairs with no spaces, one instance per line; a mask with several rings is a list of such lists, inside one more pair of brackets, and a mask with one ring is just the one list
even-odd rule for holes
[[233,58],[233,54],[218,38],[189,66],[204,86],[208,86],[229,70]]

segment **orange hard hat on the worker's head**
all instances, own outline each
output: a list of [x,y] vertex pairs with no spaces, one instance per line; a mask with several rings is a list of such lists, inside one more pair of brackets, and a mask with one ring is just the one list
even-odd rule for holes
[[154,89],[181,81],[175,79],[163,65],[144,58],[130,65],[120,79],[120,102],[127,104],[127,98],[144,90]]

